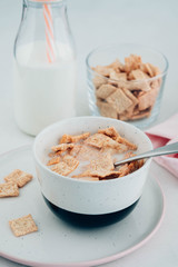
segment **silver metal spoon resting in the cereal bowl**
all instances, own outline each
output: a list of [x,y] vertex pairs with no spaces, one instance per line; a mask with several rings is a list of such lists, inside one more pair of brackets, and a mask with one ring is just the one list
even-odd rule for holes
[[119,165],[128,164],[130,161],[135,161],[135,160],[138,160],[138,159],[152,158],[152,157],[158,157],[158,156],[161,156],[161,155],[169,155],[169,154],[177,154],[177,152],[178,152],[178,142],[174,142],[171,145],[159,147],[159,148],[152,149],[148,152],[144,152],[144,154],[137,155],[135,157],[120,160],[118,162],[115,162],[113,166],[116,168]]

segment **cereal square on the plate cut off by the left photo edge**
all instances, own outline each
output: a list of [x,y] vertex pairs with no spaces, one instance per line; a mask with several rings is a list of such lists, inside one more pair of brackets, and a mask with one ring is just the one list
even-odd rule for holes
[[2,197],[18,197],[19,188],[16,182],[8,181],[6,184],[0,184],[0,198]]

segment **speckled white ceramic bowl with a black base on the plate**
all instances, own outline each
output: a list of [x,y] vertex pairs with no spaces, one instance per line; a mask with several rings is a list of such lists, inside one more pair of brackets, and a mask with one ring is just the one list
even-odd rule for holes
[[42,130],[33,144],[33,158],[41,192],[52,211],[61,218],[80,222],[106,224],[129,214],[141,197],[151,159],[135,172],[121,178],[89,181],[58,175],[46,165],[53,144],[65,135],[79,135],[115,127],[138,146],[137,154],[152,149],[149,138],[138,128],[123,121],[102,117],[76,117],[61,120]]

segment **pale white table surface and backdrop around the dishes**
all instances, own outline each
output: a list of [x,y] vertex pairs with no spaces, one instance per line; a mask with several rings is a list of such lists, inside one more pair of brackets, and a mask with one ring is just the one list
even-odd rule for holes
[[[148,43],[169,60],[161,112],[156,123],[178,111],[178,1],[177,0],[72,0],[68,13],[78,49],[77,113],[89,115],[85,58],[95,47],[109,42]],[[21,132],[12,109],[12,47],[21,17],[20,0],[0,1],[0,154],[33,138]],[[160,229],[140,249],[106,267],[178,266],[178,179],[151,165],[166,198]],[[0,267],[22,266],[0,257]]]

